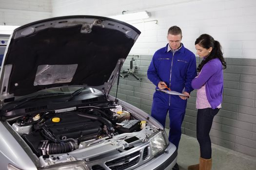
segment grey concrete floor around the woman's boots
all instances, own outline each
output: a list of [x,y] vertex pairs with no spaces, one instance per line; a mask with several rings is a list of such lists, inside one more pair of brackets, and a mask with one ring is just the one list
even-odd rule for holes
[[[168,129],[166,129],[167,134]],[[212,144],[212,170],[256,170],[256,157]],[[199,144],[191,136],[181,135],[177,163],[180,170],[199,162]]]

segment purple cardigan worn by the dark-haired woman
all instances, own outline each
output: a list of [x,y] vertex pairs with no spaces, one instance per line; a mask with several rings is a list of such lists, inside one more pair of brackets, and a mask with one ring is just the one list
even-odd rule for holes
[[212,108],[215,109],[222,102],[223,69],[218,58],[208,61],[197,78],[192,80],[192,87],[201,88],[205,84],[206,97]]

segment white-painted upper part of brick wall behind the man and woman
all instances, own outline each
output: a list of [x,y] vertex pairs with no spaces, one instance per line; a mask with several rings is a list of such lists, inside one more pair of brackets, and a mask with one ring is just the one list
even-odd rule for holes
[[[131,54],[151,54],[166,43],[166,32],[178,25],[183,43],[195,52],[195,39],[211,34],[226,57],[256,58],[256,0],[52,0],[53,16],[121,15],[146,10],[151,17],[129,23],[141,31]],[[156,24],[157,23],[157,24]]]

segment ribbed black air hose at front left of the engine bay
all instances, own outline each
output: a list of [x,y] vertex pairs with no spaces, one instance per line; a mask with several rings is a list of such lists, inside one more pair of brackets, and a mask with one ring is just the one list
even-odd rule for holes
[[68,153],[74,150],[74,145],[72,142],[49,143],[46,148],[47,154]]

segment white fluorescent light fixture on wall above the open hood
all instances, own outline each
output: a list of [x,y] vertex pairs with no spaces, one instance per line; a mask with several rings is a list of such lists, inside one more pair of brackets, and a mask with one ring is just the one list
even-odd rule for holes
[[110,16],[110,18],[121,20],[121,21],[131,21],[149,18],[149,13],[147,11],[135,12],[135,13],[124,13],[123,15]]

